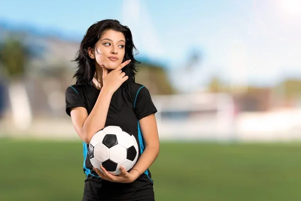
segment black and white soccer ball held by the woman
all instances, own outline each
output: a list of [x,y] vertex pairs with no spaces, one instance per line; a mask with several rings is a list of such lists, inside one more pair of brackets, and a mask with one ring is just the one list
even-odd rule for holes
[[[100,164],[111,174],[120,174],[119,167],[131,169],[138,158],[135,137],[119,126],[107,126],[95,133],[88,147],[88,156],[93,167]],[[103,173],[103,172],[102,172]]]

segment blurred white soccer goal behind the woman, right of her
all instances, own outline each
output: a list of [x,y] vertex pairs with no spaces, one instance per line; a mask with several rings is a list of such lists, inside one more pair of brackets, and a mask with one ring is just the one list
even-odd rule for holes
[[229,94],[156,95],[161,139],[232,140],[234,102]]

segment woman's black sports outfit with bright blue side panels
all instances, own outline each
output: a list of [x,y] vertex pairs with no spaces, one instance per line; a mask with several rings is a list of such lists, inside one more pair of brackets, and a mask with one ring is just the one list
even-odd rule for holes
[[[66,113],[70,116],[70,108],[84,107],[90,114],[99,93],[100,90],[92,84],[69,86],[66,90]],[[126,82],[111,98],[105,126],[117,125],[131,132],[139,144],[139,159],[145,146],[139,120],[156,112],[157,109],[147,88],[134,82]],[[110,182],[100,178],[93,171],[87,154],[88,144],[83,142],[83,170],[86,174],[84,198],[89,200],[139,200],[154,197],[152,175],[148,169],[132,183]]]

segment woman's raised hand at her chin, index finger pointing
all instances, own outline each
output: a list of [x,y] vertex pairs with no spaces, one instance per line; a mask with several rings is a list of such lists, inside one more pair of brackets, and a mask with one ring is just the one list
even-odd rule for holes
[[122,85],[122,83],[128,79],[128,76],[125,75],[121,69],[129,64],[129,62],[130,60],[123,62],[116,69],[110,71],[109,73],[105,66],[101,66],[103,87],[111,94],[113,94]]

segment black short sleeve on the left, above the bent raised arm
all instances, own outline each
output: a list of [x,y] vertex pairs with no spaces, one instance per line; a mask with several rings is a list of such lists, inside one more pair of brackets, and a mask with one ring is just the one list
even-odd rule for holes
[[70,116],[70,110],[74,107],[85,107],[85,102],[81,98],[78,89],[74,86],[69,86],[65,93],[66,113]]

